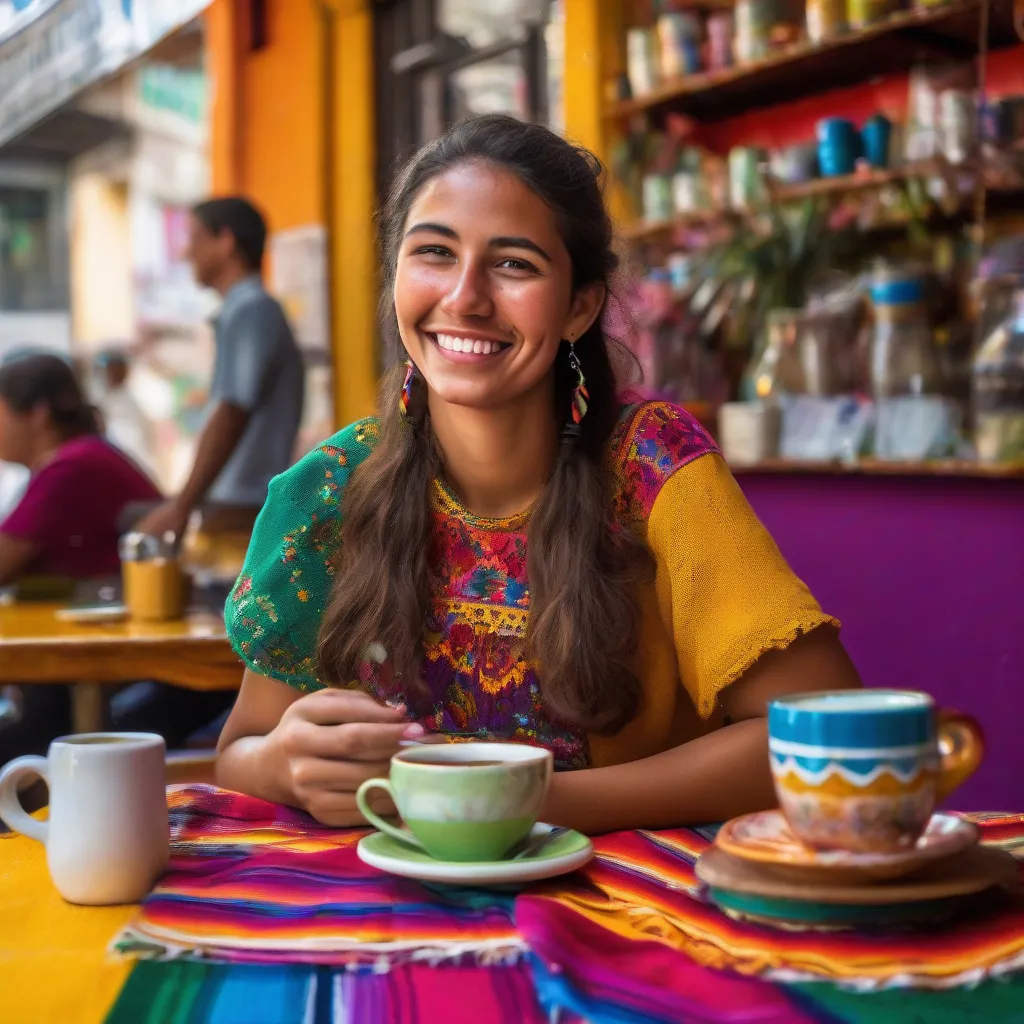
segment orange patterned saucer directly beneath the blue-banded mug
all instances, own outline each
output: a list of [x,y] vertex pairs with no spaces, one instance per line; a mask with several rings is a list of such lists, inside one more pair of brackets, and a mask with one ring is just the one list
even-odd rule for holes
[[781,811],[760,811],[727,821],[715,838],[726,853],[801,882],[870,883],[914,873],[978,842],[978,826],[955,814],[933,814],[925,835],[908,850],[854,853],[814,850],[790,830]]

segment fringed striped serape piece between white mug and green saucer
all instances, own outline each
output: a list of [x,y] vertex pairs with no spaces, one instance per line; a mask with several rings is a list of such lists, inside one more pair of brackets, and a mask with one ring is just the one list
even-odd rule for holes
[[511,899],[465,900],[368,867],[362,830],[212,786],[171,787],[168,803],[170,865],[123,950],[148,940],[232,959],[393,964],[525,948]]

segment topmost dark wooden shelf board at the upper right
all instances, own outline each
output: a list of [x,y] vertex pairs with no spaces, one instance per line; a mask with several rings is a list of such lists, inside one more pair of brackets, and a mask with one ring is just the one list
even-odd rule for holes
[[[906,71],[922,57],[974,56],[980,11],[981,0],[901,11],[879,25],[818,45],[798,43],[750,63],[666,82],[644,96],[610,103],[605,116],[618,119],[673,110],[721,120]],[[992,0],[989,45],[1016,42],[1013,0]]]

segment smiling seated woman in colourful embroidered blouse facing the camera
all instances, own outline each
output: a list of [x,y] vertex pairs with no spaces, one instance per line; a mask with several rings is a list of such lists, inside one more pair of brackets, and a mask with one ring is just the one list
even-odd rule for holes
[[538,743],[588,833],[774,803],[766,705],[854,687],[838,624],[683,410],[624,404],[597,161],[503,116],[429,144],[382,224],[404,366],[270,485],[227,604],[220,784],[360,823],[403,737]]

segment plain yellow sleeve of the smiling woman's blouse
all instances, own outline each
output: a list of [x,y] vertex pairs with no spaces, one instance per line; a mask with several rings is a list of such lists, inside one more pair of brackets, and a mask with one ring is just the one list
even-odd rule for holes
[[822,624],[839,626],[786,564],[718,455],[665,482],[647,544],[679,678],[701,718],[765,651]]

